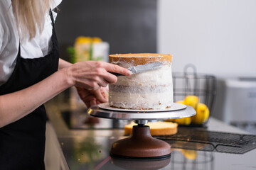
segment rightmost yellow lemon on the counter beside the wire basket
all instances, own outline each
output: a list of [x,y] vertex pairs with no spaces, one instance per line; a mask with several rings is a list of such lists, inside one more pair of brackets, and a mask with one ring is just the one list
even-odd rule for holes
[[196,115],[191,117],[192,123],[194,124],[202,124],[204,123],[210,115],[210,111],[208,107],[203,103],[198,103],[196,108]]

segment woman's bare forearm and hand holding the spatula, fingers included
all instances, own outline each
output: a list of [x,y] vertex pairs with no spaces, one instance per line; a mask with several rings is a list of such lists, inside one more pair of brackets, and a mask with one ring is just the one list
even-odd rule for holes
[[0,128],[23,118],[70,86],[96,91],[117,81],[117,77],[110,72],[126,76],[131,74],[128,69],[106,62],[71,64],[59,61],[60,69],[50,77],[21,91],[0,96]]

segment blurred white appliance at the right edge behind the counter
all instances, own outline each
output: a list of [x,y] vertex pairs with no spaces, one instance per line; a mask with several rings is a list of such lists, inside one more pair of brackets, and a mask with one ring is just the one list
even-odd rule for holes
[[214,117],[256,134],[256,77],[220,79]]

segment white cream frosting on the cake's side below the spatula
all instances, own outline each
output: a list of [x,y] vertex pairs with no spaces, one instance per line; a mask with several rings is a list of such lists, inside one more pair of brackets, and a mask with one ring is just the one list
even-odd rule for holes
[[110,84],[110,106],[132,109],[170,107],[173,101],[171,65],[161,69],[118,77]]

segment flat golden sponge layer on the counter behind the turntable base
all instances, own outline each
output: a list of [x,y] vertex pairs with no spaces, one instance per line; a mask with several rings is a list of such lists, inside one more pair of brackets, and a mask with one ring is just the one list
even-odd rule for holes
[[[135,124],[134,122],[130,123],[129,125],[124,126],[124,135],[131,135],[132,134],[132,127]],[[178,124],[171,123],[171,122],[149,122],[146,125],[150,128],[150,134],[152,136],[159,136],[159,135],[174,135],[178,131]]]

